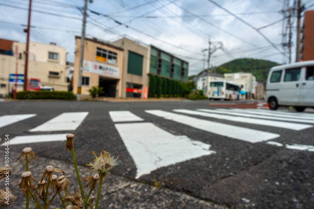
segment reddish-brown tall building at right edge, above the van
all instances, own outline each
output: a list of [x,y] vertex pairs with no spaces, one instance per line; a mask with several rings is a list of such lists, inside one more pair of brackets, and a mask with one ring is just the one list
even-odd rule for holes
[[314,60],[314,10],[309,10],[304,13],[303,19],[303,38],[301,42],[301,59]]

